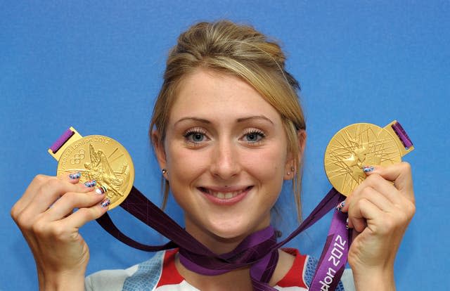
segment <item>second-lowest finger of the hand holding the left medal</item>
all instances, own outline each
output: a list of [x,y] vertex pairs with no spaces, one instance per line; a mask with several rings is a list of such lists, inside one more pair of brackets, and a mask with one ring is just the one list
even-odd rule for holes
[[72,214],[73,209],[97,205],[104,198],[105,191],[102,188],[96,188],[89,193],[65,193],[46,211],[45,219],[47,221],[63,219],[65,216]]

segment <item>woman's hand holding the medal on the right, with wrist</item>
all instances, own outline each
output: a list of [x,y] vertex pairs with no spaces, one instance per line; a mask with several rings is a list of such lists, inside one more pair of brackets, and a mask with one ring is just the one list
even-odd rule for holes
[[[390,290],[394,287],[395,255],[416,211],[411,167],[401,162],[367,170],[367,178],[342,208],[353,228],[348,261],[357,289],[369,290],[367,287],[376,283],[377,290]],[[390,287],[382,287],[383,282]]]

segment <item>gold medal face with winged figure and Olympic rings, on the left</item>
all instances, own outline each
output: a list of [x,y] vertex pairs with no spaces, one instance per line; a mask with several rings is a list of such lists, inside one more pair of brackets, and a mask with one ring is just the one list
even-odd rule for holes
[[66,148],[58,162],[57,175],[82,174],[80,181],[96,180],[107,188],[109,209],[127,198],[134,183],[133,161],[127,150],[107,136],[84,136]]

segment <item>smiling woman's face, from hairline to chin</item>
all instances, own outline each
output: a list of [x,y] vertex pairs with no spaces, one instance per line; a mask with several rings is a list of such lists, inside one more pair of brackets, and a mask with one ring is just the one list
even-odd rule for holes
[[181,83],[156,151],[186,230],[205,245],[269,226],[293,166],[278,112],[246,82],[210,70]]

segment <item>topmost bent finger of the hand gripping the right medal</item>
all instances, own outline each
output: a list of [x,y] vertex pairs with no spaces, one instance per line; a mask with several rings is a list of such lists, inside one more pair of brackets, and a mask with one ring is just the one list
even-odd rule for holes
[[368,167],[368,176],[379,174],[387,181],[394,182],[395,188],[403,193],[409,200],[414,201],[413,179],[411,176],[411,165],[407,162],[399,162],[387,167]]

